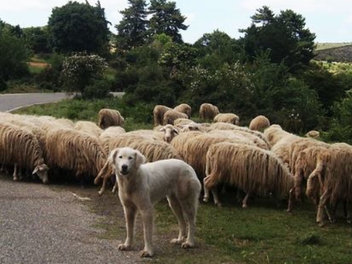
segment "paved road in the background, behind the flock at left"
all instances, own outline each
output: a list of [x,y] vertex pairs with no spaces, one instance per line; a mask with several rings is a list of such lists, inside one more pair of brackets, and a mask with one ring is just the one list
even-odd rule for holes
[[[121,97],[124,93],[112,93]],[[27,94],[0,94],[0,111],[6,112],[14,108],[38,103],[58,102],[72,96],[66,93],[27,93]]]

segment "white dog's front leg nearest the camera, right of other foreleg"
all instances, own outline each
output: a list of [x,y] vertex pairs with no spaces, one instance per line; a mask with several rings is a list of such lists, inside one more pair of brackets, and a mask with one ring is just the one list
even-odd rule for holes
[[153,208],[150,207],[141,212],[143,220],[144,249],[140,252],[141,257],[152,257],[154,255],[152,245],[153,235]]

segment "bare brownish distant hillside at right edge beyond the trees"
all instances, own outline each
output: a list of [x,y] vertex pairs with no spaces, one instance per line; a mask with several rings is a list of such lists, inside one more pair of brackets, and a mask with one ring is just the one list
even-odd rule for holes
[[314,59],[318,61],[352,62],[352,43],[336,48],[315,50]]

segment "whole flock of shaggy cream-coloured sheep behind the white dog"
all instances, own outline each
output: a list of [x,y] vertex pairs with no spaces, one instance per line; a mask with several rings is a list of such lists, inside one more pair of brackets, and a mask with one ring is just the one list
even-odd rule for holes
[[107,162],[109,152],[128,146],[148,162],[171,158],[187,162],[203,183],[204,202],[211,193],[215,205],[221,206],[218,187],[226,187],[243,208],[251,203],[250,197],[266,196],[287,201],[291,212],[305,194],[317,208],[319,225],[324,224],[324,214],[335,221],[339,202],[351,222],[352,146],[324,143],[317,139],[317,131],[297,136],[270,125],[263,115],[254,117],[249,127],[240,126],[238,115],[220,113],[209,103],[200,108],[202,123],[190,119],[186,103],[174,108],[157,105],[152,114],[153,130],[126,132],[125,119],[115,109],[101,109],[98,125],[0,113],[0,172],[12,174],[14,181],[38,178],[44,184],[68,175],[102,183],[102,195],[108,182],[113,192],[117,188]]

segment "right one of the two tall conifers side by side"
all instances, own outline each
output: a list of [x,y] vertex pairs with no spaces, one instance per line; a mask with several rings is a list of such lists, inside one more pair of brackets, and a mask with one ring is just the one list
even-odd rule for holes
[[165,33],[172,37],[174,42],[182,42],[182,36],[178,31],[187,30],[188,26],[183,24],[186,17],[176,8],[176,2],[151,0],[149,14],[153,14],[150,19],[151,34]]

